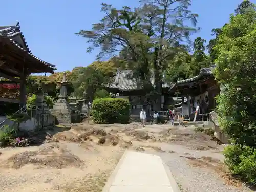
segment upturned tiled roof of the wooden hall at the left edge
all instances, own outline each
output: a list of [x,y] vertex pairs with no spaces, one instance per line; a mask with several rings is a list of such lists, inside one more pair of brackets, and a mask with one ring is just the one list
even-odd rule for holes
[[27,42],[24,38],[24,35],[20,31],[19,23],[17,23],[17,25],[15,26],[0,26],[0,38],[1,37],[8,38],[11,41],[11,43],[17,46],[20,50],[26,51],[28,55],[30,55],[34,59],[38,60],[44,65],[47,65],[52,70],[56,70],[55,65],[42,61],[31,53],[30,49],[27,46]]

